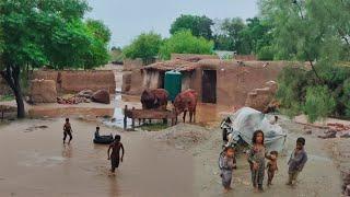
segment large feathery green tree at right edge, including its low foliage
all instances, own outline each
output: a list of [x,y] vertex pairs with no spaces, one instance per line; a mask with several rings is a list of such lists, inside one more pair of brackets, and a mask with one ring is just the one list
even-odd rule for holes
[[[348,85],[346,82],[350,72],[343,62],[350,57],[350,2],[341,0],[260,0],[259,5],[264,20],[270,21],[273,26],[275,58],[299,60],[302,65],[307,61],[311,66],[310,70],[304,71],[306,79],[301,77],[279,81],[280,93],[278,95],[282,105],[285,107],[290,107],[289,103],[298,105],[293,108],[308,115],[310,120],[329,114],[345,116],[349,107],[345,102],[348,93],[343,86]],[[293,88],[294,81],[298,80],[305,81],[304,88]],[[329,100],[332,97],[336,107],[323,108],[322,105],[330,105],[332,102],[324,99],[316,101],[318,93],[327,93]],[[295,94],[298,96],[292,96]],[[317,106],[312,106],[313,101]],[[313,111],[313,107],[320,109]]]

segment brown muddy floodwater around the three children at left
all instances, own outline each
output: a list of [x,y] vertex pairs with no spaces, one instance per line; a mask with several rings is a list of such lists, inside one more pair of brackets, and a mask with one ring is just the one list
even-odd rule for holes
[[121,132],[125,162],[110,175],[107,147],[92,143],[95,126],[73,120],[66,146],[62,119],[0,126],[0,196],[194,196],[191,157],[141,132]]

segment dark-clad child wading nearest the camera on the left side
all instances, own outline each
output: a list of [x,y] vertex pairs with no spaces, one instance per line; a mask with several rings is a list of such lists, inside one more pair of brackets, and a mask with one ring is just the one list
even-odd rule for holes
[[[112,154],[109,154],[110,149],[112,149]],[[119,155],[120,149],[121,149],[121,158]],[[122,162],[122,158],[124,158],[124,146],[120,142],[120,136],[116,135],[115,141],[110,143],[108,148],[108,160],[110,160],[112,173],[114,173],[115,170],[119,166],[119,159],[120,159],[120,162]]]

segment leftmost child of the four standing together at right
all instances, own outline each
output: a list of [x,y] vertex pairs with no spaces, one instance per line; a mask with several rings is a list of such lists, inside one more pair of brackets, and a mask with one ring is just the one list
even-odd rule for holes
[[225,146],[223,152],[220,154],[219,166],[221,170],[222,186],[224,193],[231,190],[232,172],[235,169],[236,163],[234,159],[234,148],[231,146]]

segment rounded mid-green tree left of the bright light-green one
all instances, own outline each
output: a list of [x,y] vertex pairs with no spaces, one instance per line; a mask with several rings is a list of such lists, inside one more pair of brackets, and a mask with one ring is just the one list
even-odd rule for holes
[[160,51],[162,36],[154,32],[139,35],[132,43],[122,49],[127,58],[141,58],[144,65],[151,62]]

